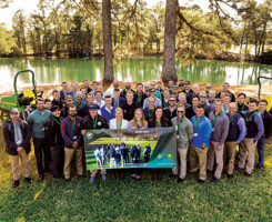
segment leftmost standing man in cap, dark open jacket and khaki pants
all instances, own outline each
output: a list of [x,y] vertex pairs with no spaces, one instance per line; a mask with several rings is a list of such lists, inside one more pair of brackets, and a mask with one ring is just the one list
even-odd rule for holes
[[21,159],[24,180],[28,183],[33,181],[30,179],[28,154],[30,152],[31,132],[28,123],[19,119],[19,110],[12,108],[10,111],[10,120],[4,122],[3,137],[7,143],[7,152],[10,157],[13,184],[12,188],[18,188],[20,184],[19,159]]

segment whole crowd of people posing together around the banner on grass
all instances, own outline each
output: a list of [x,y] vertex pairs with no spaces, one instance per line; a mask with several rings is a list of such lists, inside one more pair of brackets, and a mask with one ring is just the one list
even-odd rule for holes
[[[82,140],[85,130],[93,129],[175,128],[179,160],[172,175],[178,182],[185,179],[187,171],[199,171],[199,183],[203,183],[206,172],[211,171],[212,182],[218,182],[224,167],[228,178],[232,179],[236,155],[238,168],[244,169],[245,176],[251,176],[254,168],[264,167],[265,140],[272,125],[271,111],[266,111],[268,101],[246,100],[243,92],[235,97],[226,82],[218,93],[210,83],[200,91],[199,84],[191,85],[183,79],[178,84],[169,81],[165,88],[160,81],[137,83],[135,90],[131,89],[129,81],[124,89],[120,89],[118,80],[107,91],[95,81],[90,88],[88,80],[83,81],[81,89],[75,82],[72,82],[71,90],[68,90],[67,82],[61,85],[60,92],[53,90],[52,100],[37,98],[37,109],[27,121],[20,119],[17,108],[10,111],[3,134],[12,165],[13,188],[20,184],[19,159],[26,181],[33,182],[28,164],[31,135],[39,180],[43,180],[46,173],[52,173],[53,178],[63,175],[69,182],[73,159],[77,174],[84,176]],[[256,148],[259,160],[255,164]],[[110,158],[110,163],[111,159],[113,165],[115,158]],[[138,160],[137,157],[133,159]],[[144,161],[149,159],[150,154],[144,155]],[[122,179],[124,172],[118,169],[114,175]],[[97,173],[97,170],[90,172],[90,183]],[[151,173],[152,180],[162,176],[157,169]],[[105,181],[107,170],[101,169],[100,174]],[[133,179],[141,180],[141,169],[132,169]]]

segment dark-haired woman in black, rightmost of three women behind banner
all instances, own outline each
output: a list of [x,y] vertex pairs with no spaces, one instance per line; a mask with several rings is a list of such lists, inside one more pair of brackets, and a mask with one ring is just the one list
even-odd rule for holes
[[[153,113],[152,119],[149,120],[149,128],[168,128],[171,127],[171,122],[168,121],[163,117],[163,108],[157,107]],[[152,176],[151,180],[161,180],[162,179],[162,171],[161,169],[152,169]]]

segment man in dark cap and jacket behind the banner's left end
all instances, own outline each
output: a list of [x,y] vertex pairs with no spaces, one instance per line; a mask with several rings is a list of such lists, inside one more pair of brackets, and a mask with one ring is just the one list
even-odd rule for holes
[[[92,103],[89,107],[89,115],[87,115],[83,121],[82,121],[82,130],[81,134],[83,135],[85,133],[85,130],[95,130],[95,129],[109,129],[109,124],[107,123],[107,120],[98,114],[99,105],[95,103]],[[89,182],[92,183],[95,179],[98,171],[97,170],[91,170],[91,176]],[[101,170],[101,178],[102,181],[107,180],[107,172],[105,170]]]

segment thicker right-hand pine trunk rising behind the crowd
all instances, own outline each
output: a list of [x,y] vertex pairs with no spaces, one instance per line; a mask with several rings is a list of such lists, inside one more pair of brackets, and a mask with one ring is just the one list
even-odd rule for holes
[[167,0],[165,8],[165,29],[164,29],[164,51],[162,64],[162,81],[177,81],[175,74],[175,22],[178,0]]

